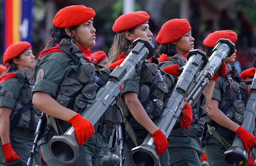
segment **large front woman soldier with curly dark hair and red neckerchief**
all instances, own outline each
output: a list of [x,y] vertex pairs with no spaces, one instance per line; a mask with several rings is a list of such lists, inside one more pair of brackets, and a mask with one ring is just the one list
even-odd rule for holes
[[80,155],[73,165],[102,165],[104,142],[101,134],[104,133],[97,129],[103,126],[99,123],[94,129],[90,121],[79,114],[88,102],[92,102],[98,86],[89,50],[96,39],[94,16],[93,9],[83,5],[67,6],[58,11],[52,21],[52,36],[35,65],[33,104],[49,115],[51,124],[56,119],[61,126],[41,141],[41,151],[48,166],[65,165],[50,155],[47,146],[56,133],[65,132],[71,125],[80,144]]

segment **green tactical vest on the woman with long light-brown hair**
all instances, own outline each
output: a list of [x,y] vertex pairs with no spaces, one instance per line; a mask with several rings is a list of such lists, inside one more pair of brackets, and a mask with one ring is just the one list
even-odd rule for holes
[[[138,99],[148,116],[155,119],[163,109],[164,97],[175,84],[175,78],[169,74],[162,76],[158,66],[154,63],[144,61],[141,68]],[[122,108],[125,117],[132,117],[123,98],[119,99],[118,104]]]

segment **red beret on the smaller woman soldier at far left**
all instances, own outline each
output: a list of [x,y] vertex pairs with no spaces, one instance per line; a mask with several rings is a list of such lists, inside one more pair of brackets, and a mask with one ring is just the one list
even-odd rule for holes
[[23,41],[23,42],[16,42],[6,49],[6,51],[3,54],[3,62],[8,63],[11,59],[14,59],[21,53],[23,53],[26,49],[31,49],[31,45],[29,42]]

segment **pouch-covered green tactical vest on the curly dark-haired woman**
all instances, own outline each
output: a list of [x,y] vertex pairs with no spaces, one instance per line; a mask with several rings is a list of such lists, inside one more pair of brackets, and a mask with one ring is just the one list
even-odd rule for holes
[[[81,113],[87,104],[93,103],[96,91],[106,83],[111,70],[96,70],[95,65],[83,57],[79,47],[72,40],[62,39],[59,49],[69,54],[74,61],[66,68],[65,79],[58,87],[55,100],[62,106]],[[67,129],[65,125],[70,126],[63,124],[61,127],[64,130]]]

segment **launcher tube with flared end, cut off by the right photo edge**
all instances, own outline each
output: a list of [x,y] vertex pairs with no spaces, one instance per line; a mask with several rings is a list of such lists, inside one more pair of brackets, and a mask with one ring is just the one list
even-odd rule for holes
[[[245,104],[245,111],[241,127],[252,133],[255,126],[256,113],[256,74],[253,77],[250,92]],[[245,118],[244,118],[245,117]],[[253,149],[255,151],[255,149]],[[223,160],[231,166],[246,166],[248,162],[248,154],[244,149],[244,143],[241,138],[236,135],[230,149],[224,153]]]

